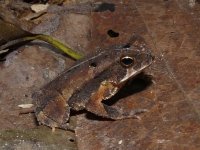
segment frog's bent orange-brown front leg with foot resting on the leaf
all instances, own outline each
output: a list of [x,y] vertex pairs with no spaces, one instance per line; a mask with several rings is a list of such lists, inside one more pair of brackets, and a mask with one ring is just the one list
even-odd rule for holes
[[125,119],[125,118],[139,118],[137,114],[146,112],[146,109],[134,109],[130,112],[124,112],[123,110],[108,106],[102,103],[102,100],[107,100],[112,97],[117,91],[118,87],[109,81],[101,83],[99,89],[93,93],[90,100],[86,104],[86,110],[105,118],[111,118],[114,120]]

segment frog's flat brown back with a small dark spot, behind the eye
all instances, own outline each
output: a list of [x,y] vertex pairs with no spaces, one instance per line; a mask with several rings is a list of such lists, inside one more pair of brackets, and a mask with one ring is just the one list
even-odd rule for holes
[[75,91],[81,90],[87,82],[109,67],[113,61],[113,57],[106,51],[78,61],[74,66],[66,69],[54,80],[33,93],[33,103],[39,107],[37,109],[42,110],[49,101],[56,100],[60,95],[65,101],[68,101]]

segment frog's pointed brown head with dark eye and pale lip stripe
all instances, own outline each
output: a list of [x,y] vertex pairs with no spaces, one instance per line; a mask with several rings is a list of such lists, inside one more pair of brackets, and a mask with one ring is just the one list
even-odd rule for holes
[[111,80],[118,85],[142,72],[154,60],[150,48],[138,35],[134,35],[123,48],[115,49],[115,56],[117,63],[112,67],[115,75]]

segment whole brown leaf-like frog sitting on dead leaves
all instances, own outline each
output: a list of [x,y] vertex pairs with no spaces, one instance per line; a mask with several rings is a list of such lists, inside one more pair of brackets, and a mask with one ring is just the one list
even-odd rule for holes
[[64,70],[33,93],[35,115],[52,130],[70,130],[71,111],[86,110],[112,120],[135,117],[146,109],[129,113],[103,103],[154,60],[144,38],[134,34],[128,43],[96,51]]

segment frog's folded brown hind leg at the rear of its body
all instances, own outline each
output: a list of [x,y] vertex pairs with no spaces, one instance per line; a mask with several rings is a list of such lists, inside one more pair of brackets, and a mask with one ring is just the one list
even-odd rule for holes
[[37,99],[35,115],[38,122],[51,127],[52,131],[55,131],[55,128],[72,130],[68,123],[70,107],[63,96],[56,91],[40,93],[34,95]]

